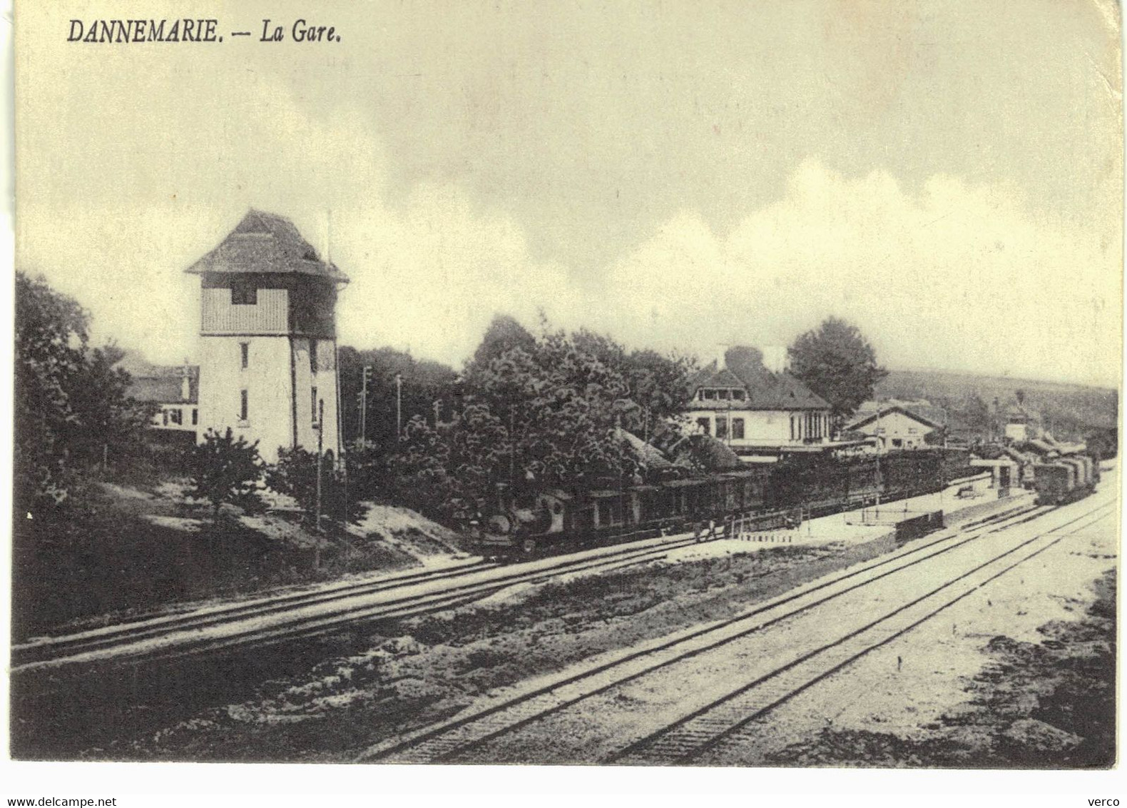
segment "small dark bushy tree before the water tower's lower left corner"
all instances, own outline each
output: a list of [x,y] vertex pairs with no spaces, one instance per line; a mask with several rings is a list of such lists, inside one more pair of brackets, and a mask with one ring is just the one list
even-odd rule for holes
[[258,494],[261,475],[258,441],[248,443],[241,434],[236,438],[230,427],[222,434],[208,429],[203,441],[192,450],[190,495],[211,502],[216,522],[224,503],[251,512],[263,508]]

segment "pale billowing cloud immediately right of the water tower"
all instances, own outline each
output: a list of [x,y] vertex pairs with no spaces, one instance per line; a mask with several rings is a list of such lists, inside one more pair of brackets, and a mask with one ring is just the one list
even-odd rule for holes
[[[533,325],[538,309],[575,322],[577,293],[561,266],[535,263],[508,218],[474,210],[452,186],[424,185],[402,209],[347,217],[340,336],[362,346],[410,346],[455,367],[496,311]],[[336,260],[336,257],[334,258]]]

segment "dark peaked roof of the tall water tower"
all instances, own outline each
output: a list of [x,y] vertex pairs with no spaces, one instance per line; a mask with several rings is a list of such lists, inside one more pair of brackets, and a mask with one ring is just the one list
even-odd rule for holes
[[347,283],[336,265],[322,261],[293,222],[277,213],[250,209],[242,221],[185,272],[194,275],[301,274]]

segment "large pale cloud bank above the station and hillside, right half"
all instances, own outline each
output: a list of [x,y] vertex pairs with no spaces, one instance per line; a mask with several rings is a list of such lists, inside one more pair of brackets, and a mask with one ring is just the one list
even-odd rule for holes
[[807,160],[786,195],[727,237],[683,213],[607,276],[600,325],[712,355],[786,344],[828,314],[882,361],[1116,384],[1118,241],[1033,218],[997,188],[934,176],[913,196],[888,174]]

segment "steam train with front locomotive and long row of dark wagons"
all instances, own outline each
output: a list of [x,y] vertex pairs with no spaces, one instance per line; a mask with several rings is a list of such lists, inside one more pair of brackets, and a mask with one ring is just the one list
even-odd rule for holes
[[[962,466],[960,466],[962,468]],[[942,489],[942,450],[880,457],[795,457],[735,471],[580,492],[497,486],[472,527],[494,559],[649,538],[739,520],[745,529],[792,527],[802,519]]]

